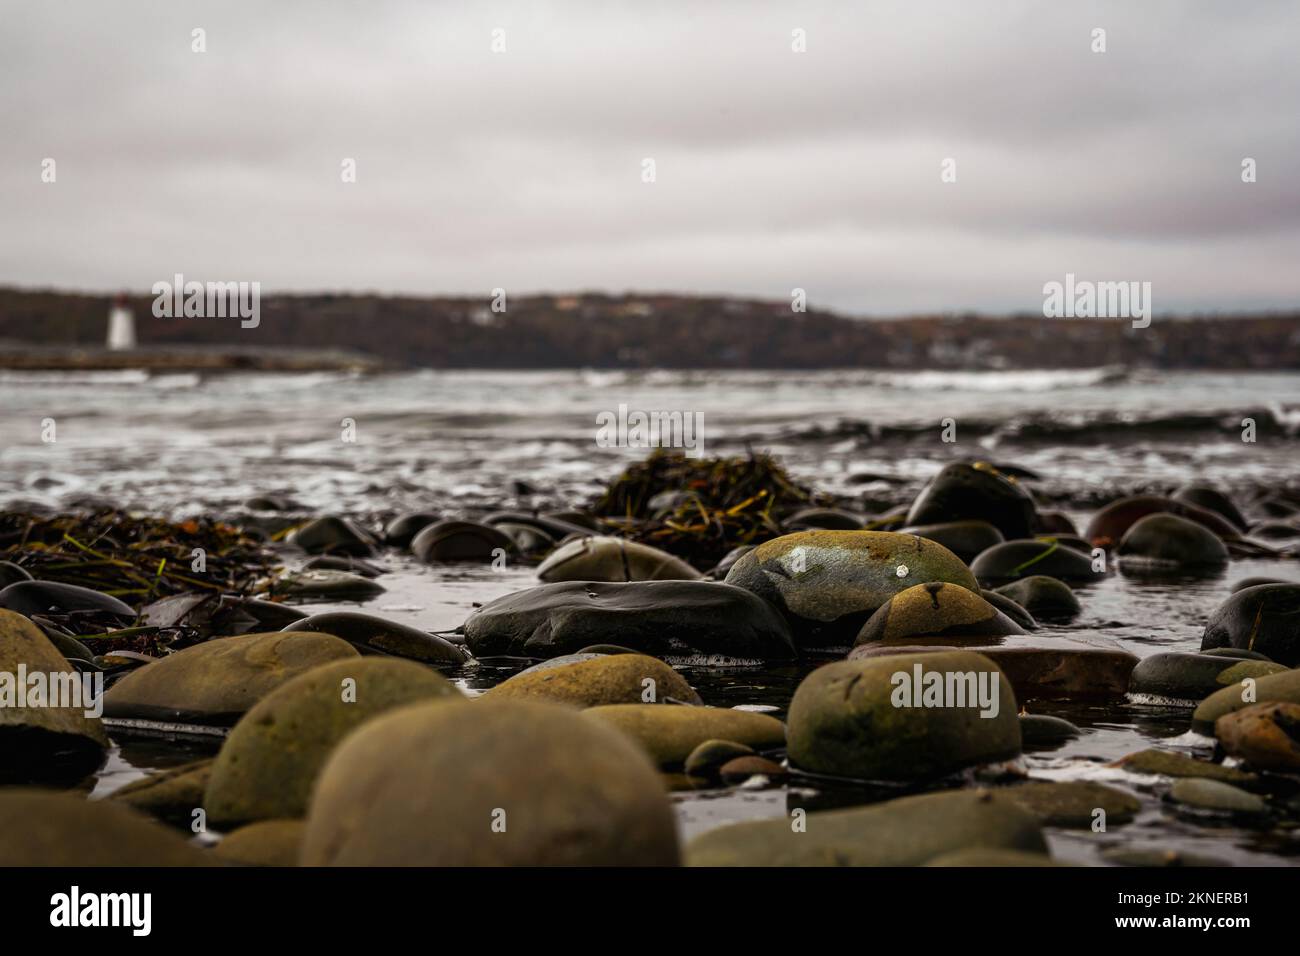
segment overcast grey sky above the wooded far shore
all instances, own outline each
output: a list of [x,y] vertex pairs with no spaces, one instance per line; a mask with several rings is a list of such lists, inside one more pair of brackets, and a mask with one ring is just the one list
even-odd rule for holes
[[0,0],[0,284],[1295,307],[1296,36],[1287,1]]

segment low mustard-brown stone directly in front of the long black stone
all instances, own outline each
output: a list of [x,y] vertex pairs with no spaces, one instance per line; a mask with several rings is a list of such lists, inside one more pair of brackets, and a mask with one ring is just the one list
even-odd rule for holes
[[484,698],[541,700],[595,708],[603,704],[699,704],[699,695],[672,667],[645,654],[597,654],[559,666],[529,667],[493,687]]

